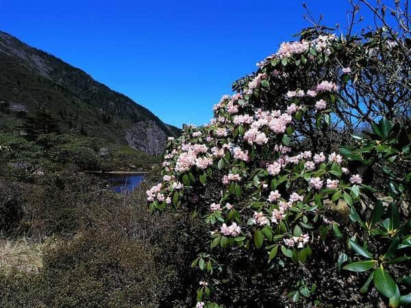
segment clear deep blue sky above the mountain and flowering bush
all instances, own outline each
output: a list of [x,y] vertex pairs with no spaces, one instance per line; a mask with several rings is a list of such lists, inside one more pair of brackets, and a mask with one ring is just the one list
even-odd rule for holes
[[[0,0],[0,29],[181,127],[208,122],[234,80],[308,26],[302,3]],[[346,0],[306,3],[328,25],[346,24]]]

